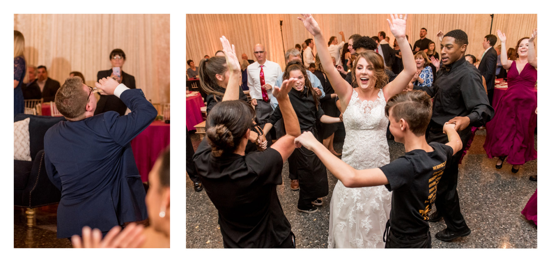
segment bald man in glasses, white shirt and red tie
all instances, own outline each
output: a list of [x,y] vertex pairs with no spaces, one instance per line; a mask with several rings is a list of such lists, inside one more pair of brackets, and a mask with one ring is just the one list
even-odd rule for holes
[[[266,59],[266,49],[261,44],[256,44],[253,48],[256,57],[256,62],[247,66],[247,85],[249,85],[251,104],[255,106],[256,121],[262,125],[268,121],[272,114],[272,88],[276,83],[277,77],[281,71],[278,63],[268,61]],[[268,146],[272,145],[272,137],[275,138],[275,129],[271,133],[266,134]],[[273,134],[274,136],[272,136]]]

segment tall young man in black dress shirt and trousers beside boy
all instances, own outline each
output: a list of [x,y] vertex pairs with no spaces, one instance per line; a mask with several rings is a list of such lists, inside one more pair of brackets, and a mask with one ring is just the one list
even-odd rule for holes
[[436,212],[429,218],[430,222],[436,222],[444,217],[447,228],[435,236],[444,241],[471,233],[459,205],[458,164],[471,136],[471,126],[482,126],[494,116],[494,109],[484,92],[480,72],[465,60],[467,44],[467,34],[462,30],[452,30],[444,35],[440,44],[442,68],[435,65],[439,71],[434,87],[414,87],[434,96],[433,116],[426,131],[427,142],[447,142],[447,136],[442,133],[445,122],[455,122],[455,129],[463,142],[461,151],[446,163],[446,169],[436,189]]

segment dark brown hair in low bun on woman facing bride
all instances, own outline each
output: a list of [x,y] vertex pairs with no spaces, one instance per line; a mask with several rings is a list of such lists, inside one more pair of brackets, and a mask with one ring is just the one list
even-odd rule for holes
[[252,127],[255,110],[245,101],[222,101],[207,117],[207,141],[214,157],[233,153]]

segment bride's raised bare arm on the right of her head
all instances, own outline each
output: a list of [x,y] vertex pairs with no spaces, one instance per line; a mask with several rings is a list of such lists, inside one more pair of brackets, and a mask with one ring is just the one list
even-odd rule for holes
[[417,72],[415,58],[413,58],[413,51],[409,49],[409,43],[406,38],[406,20],[408,18],[408,14],[405,14],[403,19],[402,14],[391,14],[390,17],[392,22],[388,19],[386,20],[392,35],[396,38],[398,46],[402,51],[402,63],[404,65],[404,69],[398,74],[398,76],[396,76],[394,81],[388,83],[382,88],[387,101],[393,95],[402,92],[402,90],[408,86],[408,83],[411,81],[413,75]]

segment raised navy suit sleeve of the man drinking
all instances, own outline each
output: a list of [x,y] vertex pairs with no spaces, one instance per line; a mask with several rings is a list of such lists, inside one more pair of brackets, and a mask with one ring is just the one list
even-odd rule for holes
[[131,113],[119,116],[115,111],[108,111],[104,114],[104,123],[111,137],[124,146],[155,120],[157,110],[145,99],[142,89],[125,90],[120,98]]

